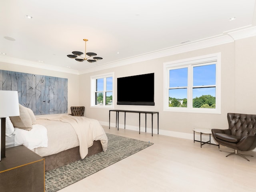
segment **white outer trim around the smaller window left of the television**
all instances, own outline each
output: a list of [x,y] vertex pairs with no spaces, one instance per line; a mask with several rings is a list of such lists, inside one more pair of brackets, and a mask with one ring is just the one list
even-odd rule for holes
[[[96,79],[112,77],[112,105],[95,105]],[[114,108],[114,72],[90,76],[90,107],[91,108]],[[106,92],[106,84],[104,84],[104,92]]]

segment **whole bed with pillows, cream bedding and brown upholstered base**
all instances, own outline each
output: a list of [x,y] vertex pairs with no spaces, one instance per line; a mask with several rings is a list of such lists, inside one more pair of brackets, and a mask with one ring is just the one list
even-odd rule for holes
[[24,145],[45,158],[45,171],[106,151],[108,138],[98,120],[68,114],[35,117],[20,105],[6,118],[6,147]]

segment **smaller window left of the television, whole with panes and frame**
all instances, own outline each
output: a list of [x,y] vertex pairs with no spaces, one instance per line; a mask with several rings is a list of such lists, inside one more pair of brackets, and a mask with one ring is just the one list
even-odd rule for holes
[[91,76],[91,106],[112,108],[113,77],[113,73]]

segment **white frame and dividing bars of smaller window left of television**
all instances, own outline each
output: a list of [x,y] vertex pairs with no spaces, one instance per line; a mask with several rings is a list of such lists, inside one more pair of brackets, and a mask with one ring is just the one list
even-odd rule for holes
[[[112,77],[112,91],[106,90],[106,78]],[[103,91],[96,91],[96,80],[103,78]],[[95,75],[95,76],[90,76],[90,107],[92,108],[114,108],[114,72],[111,73],[106,73],[106,74],[100,74],[100,75]],[[103,105],[96,105],[96,98],[95,94],[97,92],[103,92]],[[107,92],[112,92],[112,105],[106,105],[106,93]]]

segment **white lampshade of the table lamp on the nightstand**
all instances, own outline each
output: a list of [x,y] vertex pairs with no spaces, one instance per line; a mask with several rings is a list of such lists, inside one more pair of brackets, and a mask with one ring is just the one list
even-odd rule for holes
[[0,118],[19,115],[18,92],[0,90]]

